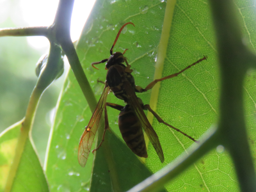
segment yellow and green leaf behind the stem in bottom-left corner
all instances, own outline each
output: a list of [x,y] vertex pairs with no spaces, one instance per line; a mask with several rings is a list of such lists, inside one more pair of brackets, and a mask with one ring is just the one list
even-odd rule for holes
[[[20,133],[22,121],[12,125],[1,134],[1,189],[4,189],[6,179],[15,161],[15,148]],[[12,191],[49,191],[44,171],[30,140],[26,141],[17,172],[13,173],[15,179],[12,183]]]

